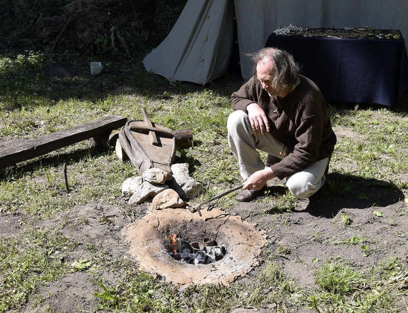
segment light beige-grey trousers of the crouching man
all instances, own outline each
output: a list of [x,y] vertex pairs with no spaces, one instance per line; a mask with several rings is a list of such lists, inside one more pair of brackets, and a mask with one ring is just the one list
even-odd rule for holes
[[[277,138],[269,134],[259,135],[253,131],[248,115],[241,111],[234,111],[227,121],[228,145],[238,160],[241,176],[244,180],[254,172],[265,168],[264,162],[257,149],[284,158],[288,148]],[[283,154],[280,152],[283,151]],[[328,158],[313,163],[308,168],[286,177],[285,185],[293,196],[305,199],[322,188],[324,172]]]

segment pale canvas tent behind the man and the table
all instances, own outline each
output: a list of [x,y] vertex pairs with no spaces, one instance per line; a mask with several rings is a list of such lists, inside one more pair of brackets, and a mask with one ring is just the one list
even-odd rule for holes
[[[400,30],[408,38],[406,0],[188,0],[167,38],[143,60],[147,71],[171,81],[206,84],[230,63],[236,18],[240,66],[251,75],[245,53],[265,46],[278,27],[336,28],[369,25]],[[408,41],[407,41],[408,43]]]

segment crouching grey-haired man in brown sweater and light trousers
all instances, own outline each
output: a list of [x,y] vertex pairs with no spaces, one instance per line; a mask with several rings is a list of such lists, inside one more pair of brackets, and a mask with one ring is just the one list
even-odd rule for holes
[[[286,51],[264,48],[252,59],[254,74],[232,94],[227,122],[228,144],[245,180],[237,200],[262,195],[275,177],[286,178],[296,198],[308,198],[322,188],[337,140],[326,100]],[[265,167],[257,149],[282,160]]]

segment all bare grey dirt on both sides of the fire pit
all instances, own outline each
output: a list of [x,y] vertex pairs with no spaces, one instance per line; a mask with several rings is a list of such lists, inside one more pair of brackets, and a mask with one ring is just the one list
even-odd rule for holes
[[[325,188],[329,188],[328,181],[336,184],[336,175],[329,171]],[[278,182],[272,181],[268,196],[284,192],[283,187],[277,186]],[[350,190],[331,196],[326,196],[323,189],[310,199],[299,200],[292,212],[270,211],[261,201],[237,202],[231,207],[222,207],[222,210],[238,214],[259,231],[266,231],[271,251],[279,248],[286,251],[276,253],[276,262],[297,284],[308,289],[315,286],[314,270],[328,258],[346,259],[356,268],[365,270],[390,256],[407,256],[408,205],[404,198],[408,194],[375,180],[350,180],[350,186]],[[102,247],[105,257],[112,263],[121,262],[131,257],[121,234],[122,228],[145,216],[148,210],[147,203],[131,206],[123,199],[120,201],[120,206],[105,202],[80,205],[72,212],[61,213],[47,221],[24,220],[24,215],[9,215],[7,219],[0,219],[0,236],[19,236],[24,223],[34,224],[37,228],[56,228],[63,236],[78,243],[77,248],[63,256],[66,264],[90,257],[89,249],[86,249],[89,245]],[[374,210],[382,216],[373,214]],[[344,224],[342,214],[348,215],[350,225]],[[101,222],[105,218],[109,222]],[[87,223],[78,222],[84,219]],[[61,220],[66,220],[62,228]],[[254,270],[241,279],[256,274],[257,270]],[[23,311],[46,312],[50,308],[67,313],[92,311],[97,301],[94,293],[100,292],[96,282],[114,282],[119,276],[120,272],[110,271],[109,266],[97,275],[91,270],[71,272],[42,287],[39,295],[44,300],[39,304],[28,303]],[[302,309],[302,312],[306,311]]]

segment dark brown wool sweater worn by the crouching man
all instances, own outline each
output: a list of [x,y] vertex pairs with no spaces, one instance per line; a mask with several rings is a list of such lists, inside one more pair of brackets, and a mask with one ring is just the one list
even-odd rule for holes
[[299,75],[299,79],[299,85],[278,100],[270,97],[254,77],[232,94],[234,111],[248,113],[246,107],[258,103],[268,117],[270,133],[291,151],[271,166],[279,179],[330,158],[337,141],[319,88],[304,76]]

